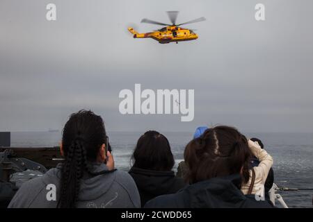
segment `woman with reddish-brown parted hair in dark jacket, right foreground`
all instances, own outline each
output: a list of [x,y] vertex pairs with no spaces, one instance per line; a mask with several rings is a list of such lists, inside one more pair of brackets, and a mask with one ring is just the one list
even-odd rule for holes
[[145,207],[273,207],[240,190],[250,178],[251,155],[246,137],[235,128],[209,128],[185,148],[190,185],[154,198]]

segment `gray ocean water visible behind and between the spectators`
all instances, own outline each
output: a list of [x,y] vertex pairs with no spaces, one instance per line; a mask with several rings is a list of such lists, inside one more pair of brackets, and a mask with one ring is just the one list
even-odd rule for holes
[[[142,133],[109,132],[115,167],[127,171],[131,153]],[[163,133],[168,137],[175,157],[174,171],[184,159],[184,147],[193,136],[190,133]],[[309,188],[311,191],[279,191],[289,207],[313,207],[313,134],[309,133],[246,133],[262,140],[273,156],[275,183],[279,187]],[[11,134],[11,146],[58,146],[61,132],[18,132]],[[278,204],[278,207],[280,205]]]

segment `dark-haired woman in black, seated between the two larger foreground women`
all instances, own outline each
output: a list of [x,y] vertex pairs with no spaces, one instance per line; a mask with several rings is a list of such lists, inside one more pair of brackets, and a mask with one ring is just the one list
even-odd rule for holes
[[133,167],[129,174],[134,178],[141,196],[141,205],[162,194],[174,194],[185,186],[184,180],[176,178],[175,164],[170,144],[157,131],[147,131],[137,142],[131,157]]

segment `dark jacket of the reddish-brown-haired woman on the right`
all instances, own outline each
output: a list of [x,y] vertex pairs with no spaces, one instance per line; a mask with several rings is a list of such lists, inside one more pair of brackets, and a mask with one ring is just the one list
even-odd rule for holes
[[147,202],[145,207],[154,208],[204,208],[204,207],[273,207],[267,201],[245,196],[239,189],[239,175],[211,178],[189,185],[176,194],[163,195]]

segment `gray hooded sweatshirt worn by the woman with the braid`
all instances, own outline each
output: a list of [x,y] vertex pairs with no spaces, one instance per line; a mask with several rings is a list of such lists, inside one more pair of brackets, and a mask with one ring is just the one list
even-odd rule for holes
[[[58,203],[61,167],[62,164],[58,164],[44,176],[25,182],[8,207],[55,208]],[[92,163],[89,167],[92,173],[108,170],[105,164]],[[141,198],[133,178],[125,171],[117,170],[97,176],[86,173],[81,180],[77,207],[141,207]]]

